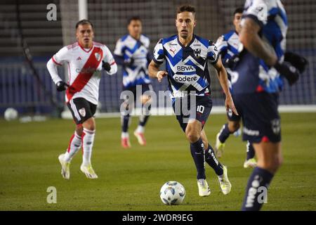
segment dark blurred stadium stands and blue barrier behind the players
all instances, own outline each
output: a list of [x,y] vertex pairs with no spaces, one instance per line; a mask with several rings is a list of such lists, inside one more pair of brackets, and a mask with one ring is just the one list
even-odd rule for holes
[[[46,20],[46,6],[52,3],[57,6],[57,21]],[[143,33],[150,37],[153,49],[160,38],[175,34],[176,7],[183,3],[187,1],[93,0],[87,4],[88,18],[95,25],[95,40],[106,44],[114,51],[117,39],[126,34],[127,18],[139,15],[143,20]],[[235,8],[244,4],[244,0],[195,0],[190,1],[190,4],[197,8],[195,33],[216,41],[220,34],[232,29],[232,13]],[[285,82],[280,104],[315,105],[316,1],[287,0],[284,1],[284,6],[289,19],[287,49],[301,53],[308,58],[310,64],[296,85],[289,87]],[[21,20],[20,30],[18,12]],[[75,41],[74,25],[78,20],[78,1],[4,0],[0,2],[0,18],[0,113],[9,106],[18,108],[19,113],[52,113],[50,98],[60,102],[63,100],[63,94],[56,93],[46,70],[46,62],[61,46]],[[23,56],[20,33],[29,46],[43,86],[32,76],[32,70]],[[67,70],[61,68],[60,74],[63,75],[64,71]],[[213,70],[211,76],[213,103],[223,105],[223,94]],[[153,84],[155,91],[167,89],[166,80],[163,85],[158,85],[157,81],[153,81]],[[103,113],[119,111],[120,91],[120,70],[117,75],[102,79],[100,103]]]

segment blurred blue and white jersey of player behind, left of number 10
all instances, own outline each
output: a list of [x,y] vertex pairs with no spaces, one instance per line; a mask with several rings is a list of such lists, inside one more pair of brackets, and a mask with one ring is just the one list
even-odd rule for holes
[[118,64],[124,65],[124,60],[131,60],[132,65],[123,66],[123,86],[131,87],[138,84],[150,84],[148,75],[148,48],[150,39],[141,34],[140,39],[136,40],[131,35],[127,34],[117,41],[114,50],[115,58],[119,57],[122,60],[117,60]]

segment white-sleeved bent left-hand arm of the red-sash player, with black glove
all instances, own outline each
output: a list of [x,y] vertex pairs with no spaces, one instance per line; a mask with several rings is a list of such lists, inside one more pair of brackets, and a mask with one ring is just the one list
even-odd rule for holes
[[62,65],[62,63],[67,60],[67,47],[64,47],[58,51],[47,63],[47,69],[49,74],[51,75],[51,79],[56,84],[56,88],[58,91],[65,91],[67,86],[69,86],[66,82],[62,81],[60,76],[58,75],[57,66]]

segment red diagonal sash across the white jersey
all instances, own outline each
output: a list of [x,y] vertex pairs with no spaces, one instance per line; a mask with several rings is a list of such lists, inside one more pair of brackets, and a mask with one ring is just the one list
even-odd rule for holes
[[76,79],[74,79],[72,85],[70,85],[66,90],[67,102],[69,102],[72,99],[74,94],[81,91],[84,88],[84,86],[86,86],[88,81],[93,76],[94,72],[96,72],[102,59],[102,49],[94,46],[93,51],[88,60],[86,61],[84,67],[81,69],[81,72],[79,72],[79,75],[77,75]]

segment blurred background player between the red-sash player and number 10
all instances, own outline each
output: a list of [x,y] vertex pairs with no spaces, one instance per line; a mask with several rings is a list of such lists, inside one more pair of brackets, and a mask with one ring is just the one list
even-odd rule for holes
[[[139,117],[139,124],[134,131],[134,135],[138,139],[140,145],[145,146],[146,140],[144,136],[145,124],[150,117],[150,91],[152,85],[148,76],[148,64],[152,57],[148,51],[150,39],[142,34],[142,22],[138,16],[134,16],[128,20],[127,29],[129,34],[121,37],[117,41],[114,50],[114,58],[117,64],[123,67],[123,91],[131,91],[134,101],[140,101],[142,114]],[[141,89],[140,99],[137,99],[136,88]],[[133,108],[131,99],[126,97],[124,109],[121,110],[121,146],[130,148],[129,141],[129,124],[131,123],[131,108]]]

